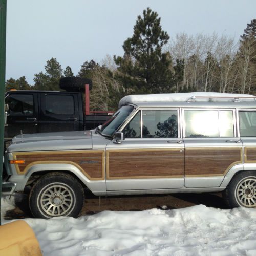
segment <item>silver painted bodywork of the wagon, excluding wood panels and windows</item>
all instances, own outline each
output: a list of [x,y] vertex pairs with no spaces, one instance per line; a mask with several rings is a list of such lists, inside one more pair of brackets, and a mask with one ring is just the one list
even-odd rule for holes
[[[71,172],[84,183],[95,195],[128,195],[128,194],[160,194],[182,192],[206,192],[222,191],[226,188],[234,174],[243,170],[256,170],[256,164],[237,164],[231,167],[226,175],[219,177],[189,177],[189,178],[150,178],[150,179],[114,179],[114,180],[89,180],[81,171],[71,164],[37,164],[33,165],[26,175],[17,175],[14,165],[8,164],[13,159],[13,152],[33,151],[60,151],[60,150],[112,150],[112,149],[145,149],[145,148],[184,148],[189,147],[256,147],[255,137],[240,138],[239,110],[256,110],[255,101],[245,102],[140,102],[130,103],[134,111],[127,117],[118,131],[122,131],[125,125],[139,110],[172,109],[178,111],[179,131],[178,138],[148,138],[128,139],[120,144],[114,140],[105,138],[91,131],[60,132],[33,135],[15,136],[5,154],[5,165],[10,176],[8,182],[14,183],[15,191],[22,191],[29,177],[36,172],[54,172],[62,170]],[[234,137],[230,138],[184,138],[183,111],[184,109],[221,109],[233,110],[234,113]],[[234,143],[239,141],[239,143]],[[218,161],[218,159],[216,159]],[[105,175],[106,176],[106,175]]]

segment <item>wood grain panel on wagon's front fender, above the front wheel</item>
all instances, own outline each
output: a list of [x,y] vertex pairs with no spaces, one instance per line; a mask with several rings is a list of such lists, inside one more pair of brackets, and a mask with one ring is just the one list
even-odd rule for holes
[[104,151],[16,153],[15,156],[17,160],[25,160],[24,164],[18,164],[20,174],[36,163],[71,163],[89,179],[104,179]]

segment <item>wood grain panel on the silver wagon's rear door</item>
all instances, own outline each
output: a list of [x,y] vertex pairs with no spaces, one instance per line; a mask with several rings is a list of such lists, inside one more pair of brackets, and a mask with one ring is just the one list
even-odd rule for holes
[[187,148],[185,176],[223,176],[242,163],[242,148]]

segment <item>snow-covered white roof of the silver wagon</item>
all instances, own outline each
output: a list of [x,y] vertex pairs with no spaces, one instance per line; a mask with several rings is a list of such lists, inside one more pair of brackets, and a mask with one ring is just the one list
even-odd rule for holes
[[[234,98],[254,97],[250,94],[215,93],[215,92],[191,92],[191,93],[162,93],[162,94],[141,94],[127,95],[119,101],[119,108],[127,103],[136,102],[185,102],[196,97],[221,97],[225,101],[233,101]],[[232,99],[228,99],[232,98]],[[209,99],[207,99],[209,100]],[[205,99],[204,99],[205,101]]]

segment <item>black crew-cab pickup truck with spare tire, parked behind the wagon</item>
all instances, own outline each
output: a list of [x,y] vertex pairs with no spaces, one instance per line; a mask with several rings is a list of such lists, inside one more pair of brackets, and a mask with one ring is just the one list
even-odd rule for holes
[[[5,141],[20,133],[94,129],[113,112],[90,112],[89,79],[62,78],[58,91],[9,91],[5,95]],[[72,82],[71,86],[69,85]],[[84,84],[88,83],[88,84]],[[85,93],[85,103],[82,92]]]

